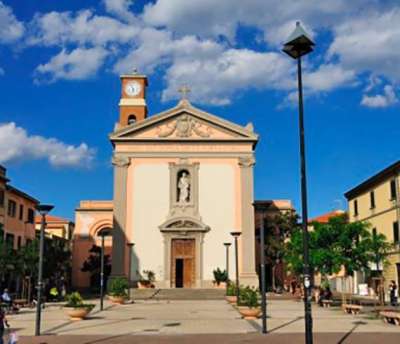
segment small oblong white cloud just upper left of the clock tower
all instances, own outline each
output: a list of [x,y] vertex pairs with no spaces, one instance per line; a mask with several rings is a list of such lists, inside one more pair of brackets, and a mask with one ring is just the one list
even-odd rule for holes
[[41,83],[54,82],[59,79],[87,79],[96,74],[107,54],[107,51],[100,47],[76,48],[71,52],[63,49],[48,63],[41,64],[36,68],[35,80]]

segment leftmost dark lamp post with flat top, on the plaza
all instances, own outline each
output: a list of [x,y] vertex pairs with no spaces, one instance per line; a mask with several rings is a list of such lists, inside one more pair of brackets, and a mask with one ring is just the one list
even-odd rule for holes
[[44,254],[44,231],[46,228],[46,215],[54,208],[50,204],[38,204],[36,210],[42,216],[40,224],[39,239],[39,267],[38,267],[38,284],[37,284],[37,303],[36,303],[36,322],[35,336],[40,336],[40,322],[42,317],[42,294],[43,294],[43,254]]

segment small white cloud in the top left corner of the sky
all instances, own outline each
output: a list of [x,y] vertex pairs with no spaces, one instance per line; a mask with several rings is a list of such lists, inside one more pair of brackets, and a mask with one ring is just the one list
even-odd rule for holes
[[0,1],[0,43],[12,43],[24,34],[24,25],[13,14],[11,7]]

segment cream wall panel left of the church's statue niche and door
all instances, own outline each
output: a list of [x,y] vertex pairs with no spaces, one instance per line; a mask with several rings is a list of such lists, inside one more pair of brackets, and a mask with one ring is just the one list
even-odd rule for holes
[[[139,268],[152,270],[156,280],[163,280],[164,246],[158,226],[162,224],[169,209],[169,168],[168,163],[140,164],[133,170],[133,241],[134,253]],[[134,262],[136,259],[134,258]]]

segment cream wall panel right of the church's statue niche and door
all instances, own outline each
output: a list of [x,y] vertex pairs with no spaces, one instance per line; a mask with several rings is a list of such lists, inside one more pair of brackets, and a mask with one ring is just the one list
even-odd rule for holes
[[234,278],[234,245],[229,234],[235,220],[235,179],[234,168],[228,164],[200,164],[199,169],[199,211],[202,221],[211,230],[204,238],[203,279],[212,280],[213,270],[225,269],[224,242],[230,247],[229,274]]

